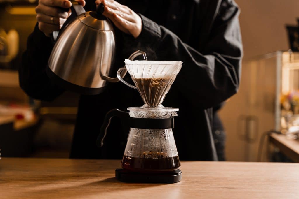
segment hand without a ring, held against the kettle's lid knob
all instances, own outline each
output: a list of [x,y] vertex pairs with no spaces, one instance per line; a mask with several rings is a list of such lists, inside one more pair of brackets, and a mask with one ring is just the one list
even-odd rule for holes
[[96,4],[104,4],[103,15],[111,19],[111,21],[121,31],[131,34],[137,38],[142,30],[142,20],[138,14],[129,7],[119,4],[114,0],[97,0]]

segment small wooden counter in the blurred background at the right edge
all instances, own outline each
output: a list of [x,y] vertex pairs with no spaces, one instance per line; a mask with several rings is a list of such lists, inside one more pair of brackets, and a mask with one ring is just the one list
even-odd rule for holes
[[284,155],[294,162],[299,162],[299,141],[291,140],[286,135],[272,133],[269,141],[277,146]]

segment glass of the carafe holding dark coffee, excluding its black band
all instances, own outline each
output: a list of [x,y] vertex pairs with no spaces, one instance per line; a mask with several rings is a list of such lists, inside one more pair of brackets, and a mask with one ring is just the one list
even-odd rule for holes
[[[131,118],[166,119],[176,116],[177,108],[129,107]],[[173,171],[181,164],[172,129],[131,128],[121,166],[135,172]]]

